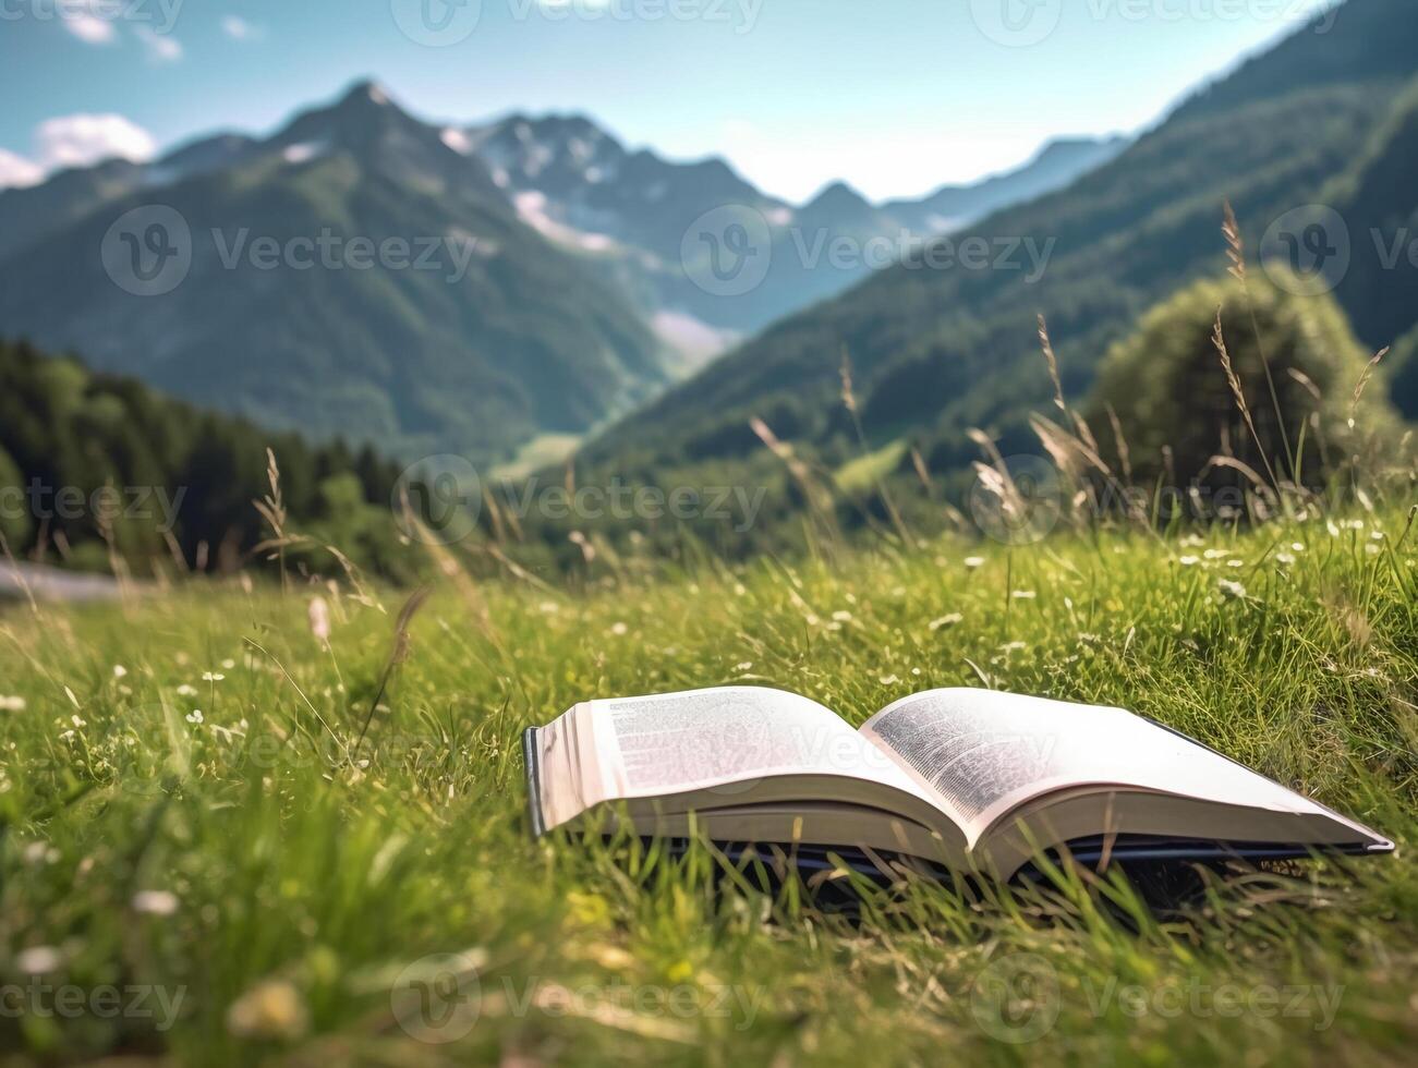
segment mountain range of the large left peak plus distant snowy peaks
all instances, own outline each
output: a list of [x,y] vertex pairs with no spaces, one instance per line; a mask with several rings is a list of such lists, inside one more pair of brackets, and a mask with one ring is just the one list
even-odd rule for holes
[[[440,128],[360,82],[265,139],[218,133],[0,191],[0,335],[278,427],[501,458],[586,434],[920,237],[1113,150],[1059,143],[922,201],[832,183],[791,206],[722,159],[631,150],[586,116]],[[150,223],[128,214],[143,206],[176,210],[191,258],[172,292],[135,296],[104,268],[149,255]],[[326,231],[435,241],[458,277],[254,261]]]

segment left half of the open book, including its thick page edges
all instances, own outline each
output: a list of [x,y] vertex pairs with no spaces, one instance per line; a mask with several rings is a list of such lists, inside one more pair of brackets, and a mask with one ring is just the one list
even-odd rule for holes
[[723,686],[588,701],[529,745],[540,806],[533,820],[543,830],[620,801],[611,818],[628,816],[642,834],[682,835],[692,814],[725,840],[811,834],[821,844],[966,862],[964,831],[932,793],[835,712],[797,694]]

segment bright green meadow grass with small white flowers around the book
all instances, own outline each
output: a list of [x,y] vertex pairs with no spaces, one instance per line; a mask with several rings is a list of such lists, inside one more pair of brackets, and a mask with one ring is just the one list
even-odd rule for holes
[[[1095,530],[1012,550],[944,539],[574,593],[451,583],[413,618],[357,746],[396,647],[394,594],[381,610],[231,582],[16,607],[0,617],[0,1050],[292,1065],[1411,1062],[1407,522]],[[529,840],[523,726],[587,696],[729,682],[797,689],[854,722],[944,685],[1116,702],[1400,851],[1215,877],[1166,913],[1075,871],[973,898],[927,882],[866,892],[854,920],[794,884],[716,889],[706,850],[672,861]],[[447,986],[448,960],[462,986]],[[457,1008],[442,1030],[407,1011],[421,980]],[[86,1007],[47,1011],[60,989]],[[104,1016],[102,989],[147,990],[149,1016]]]

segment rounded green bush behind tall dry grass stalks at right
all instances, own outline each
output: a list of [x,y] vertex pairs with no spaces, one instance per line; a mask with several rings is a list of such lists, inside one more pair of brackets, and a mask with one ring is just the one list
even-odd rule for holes
[[[1231,373],[1214,336],[1218,309]],[[1329,295],[1296,296],[1255,277],[1246,287],[1207,279],[1156,306],[1107,352],[1088,421],[1116,469],[1122,450],[1109,408],[1116,413],[1139,484],[1235,484],[1239,472],[1212,464],[1231,455],[1266,479],[1273,471],[1279,481],[1322,485],[1394,425],[1381,377],[1356,406],[1367,362]]]

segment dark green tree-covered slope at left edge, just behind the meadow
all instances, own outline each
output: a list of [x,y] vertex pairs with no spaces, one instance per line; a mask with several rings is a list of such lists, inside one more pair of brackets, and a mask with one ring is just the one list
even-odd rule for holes
[[[394,567],[398,465],[372,448],[315,447],[0,342],[0,532],[14,557],[104,570],[118,559],[140,574],[153,562],[235,567],[272,536],[254,506],[271,494],[267,448],[292,526],[337,532],[360,564]],[[328,555],[311,559],[339,569]]]

